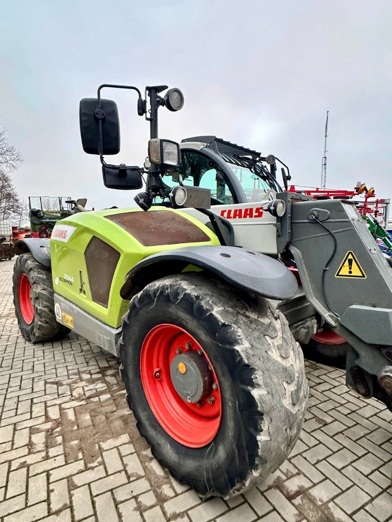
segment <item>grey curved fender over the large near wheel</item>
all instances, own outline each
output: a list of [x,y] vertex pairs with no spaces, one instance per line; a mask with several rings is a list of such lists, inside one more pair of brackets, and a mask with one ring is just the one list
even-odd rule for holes
[[272,257],[235,246],[186,246],[154,254],[125,276],[120,295],[129,300],[148,283],[179,274],[188,265],[207,270],[235,287],[271,299],[290,299],[298,283],[292,272]]

